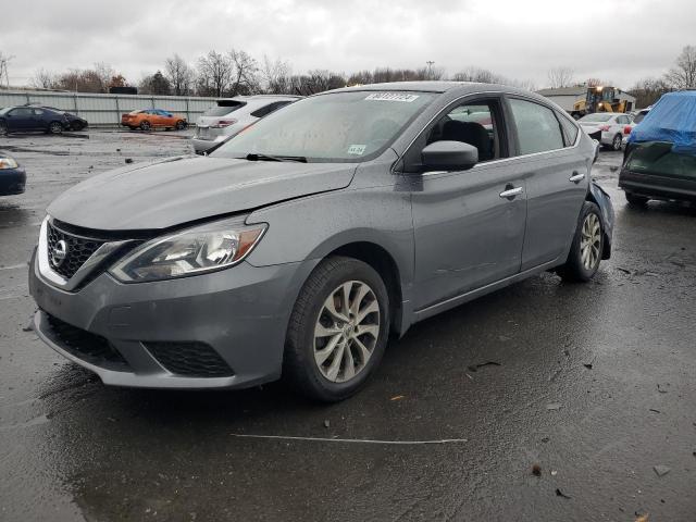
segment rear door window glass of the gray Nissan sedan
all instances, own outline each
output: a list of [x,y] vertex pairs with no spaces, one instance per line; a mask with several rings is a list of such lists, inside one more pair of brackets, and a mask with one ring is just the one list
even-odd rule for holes
[[510,109],[517,128],[520,156],[564,147],[560,123],[551,109],[518,98],[510,99]]

